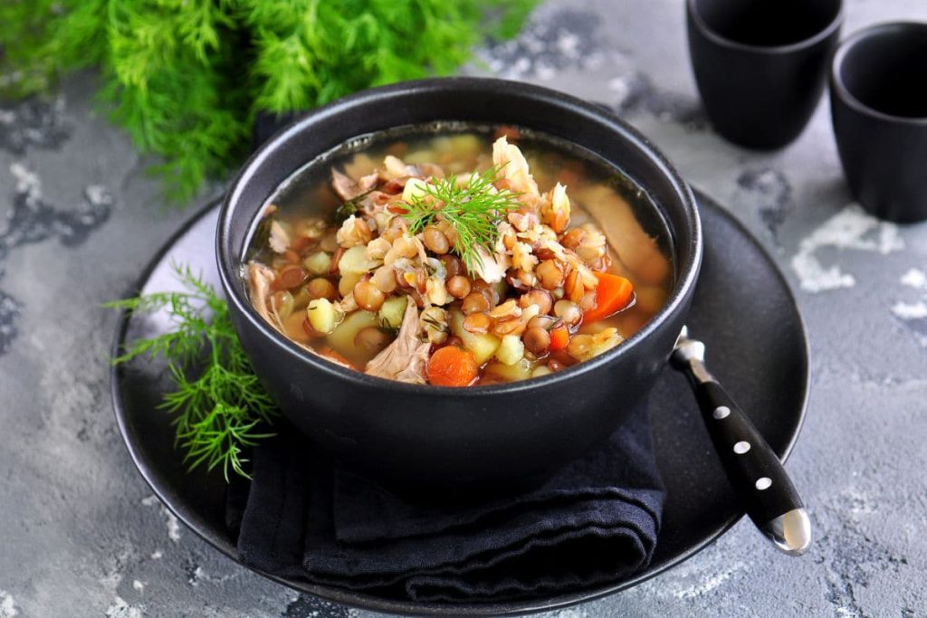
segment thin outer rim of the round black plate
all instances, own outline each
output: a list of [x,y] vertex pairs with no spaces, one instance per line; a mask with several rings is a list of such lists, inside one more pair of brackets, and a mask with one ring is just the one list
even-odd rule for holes
[[[749,244],[756,249],[757,253],[762,259],[768,262],[768,264],[772,267],[771,271],[773,271],[774,277],[779,280],[779,283],[781,284],[781,287],[785,292],[788,301],[794,308],[794,313],[797,318],[796,326],[804,344],[802,346],[801,362],[804,365],[805,380],[801,385],[801,406],[797,413],[797,423],[795,424],[794,433],[790,436],[784,448],[781,449],[781,454],[779,454],[780,460],[784,463],[792,454],[795,444],[798,441],[798,437],[801,435],[805,426],[807,417],[807,404],[811,385],[811,368],[810,344],[808,341],[805,319],[802,317],[802,313],[798,306],[797,299],[795,298],[792,286],[785,278],[785,275],[781,271],[779,265],[774,259],[772,259],[772,256],[769,255],[766,247],[763,246],[756,238],[756,236],[751,233],[750,230],[743,224],[743,222],[734,217],[730,211],[720,206],[720,204],[718,204],[715,199],[709,195],[706,195],[705,192],[698,190],[691,184],[690,186],[692,187],[692,192],[695,195],[696,203],[700,208],[700,212],[702,208],[715,210],[722,219],[727,220],[727,222],[729,222],[738,233],[741,233],[744,236]],[[126,292],[126,296],[137,296],[144,287],[144,284],[146,284],[148,279],[150,279],[152,272],[158,268],[160,262],[171,250],[171,247],[174,246],[177,241],[197,223],[197,221],[200,221],[213,208],[217,208],[220,204],[222,204],[221,196],[210,198],[203,207],[197,208],[197,210],[186,221],[184,221],[174,233],[171,233],[171,235],[159,247],[157,253],[155,253],[151,259],[149,259],[146,267],[142,270],[139,276],[134,280],[130,289]],[[118,356],[121,351],[122,344],[125,340],[125,335],[128,332],[131,318],[132,314],[129,311],[124,309],[121,311],[119,327],[116,329],[115,337],[113,338],[112,345],[110,346],[110,354],[112,358]],[[659,574],[666,573],[669,569],[679,565],[681,562],[691,559],[692,556],[714,543],[720,536],[726,534],[735,523],[738,523],[745,514],[745,511],[735,511],[735,513],[727,522],[720,525],[717,530],[712,532],[710,535],[705,536],[705,538],[703,538],[699,543],[679,553],[671,560],[668,560],[666,563],[659,565],[653,570],[646,570],[640,574],[636,574],[632,577],[629,577],[628,579],[622,580],[621,582],[618,582],[614,585],[606,585],[593,590],[558,595],[556,597],[538,599],[535,601],[529,599],[512,602],[490,601],[486,603],[461,604],[415,603],[413,601],[384,599],[375,595],[369,595],[363,592],[348,591],[342,588],[337,588],[335,586],[320,586],[311,584],[309,582],[296,582],[288,580],[280,575],[267,573],[240,561],[237,556],[235,545],[231,543],[228,538],[223,538],[222,536],[215,534],[215,531],[212,530],[209,526],[197,523],[194,521],[195,518],[188,517],[187,513],[178,509],[174,504],[174,501],[168,497],[168,494],[170,493],[169,488],[162,488],[159,483],[155,481],[154,474],[149,469],[149,466],[146,464],[146,461],[142,457],[141,453],[135,447],[133,440],[129,437],[129,429],[126,424],[126,413],[122,406],[120,394],[121,376],[122,372],[125,371],[127,371],[127,369],[122,365],[110,364],[109,394],[112,400],[116,423],[119,427],[122,443],[129,451],[129,457],[133,461],[135,470],[142,475],[142,478],[145,480],[147,486],[151,489],[152,492],[154,492],[155,496],[159,498],[165,508],[167,508],[168,511],[171,511],[171,513],[177,517],[180,522],[184,523],[184,525],[193,531],[199,538],[206,541],[213,549],[217,549],[220,553],[222,553],[222,555],[235,562],[235,564],[238,566],[244,567],[253,573],[260,574],[261,576],[266,577],[273,582],[276,582],[277,584],[281,584],[293,590],[297,590],[300,593],[308,593],[319,597],[320,599],[334,601],[336,603],[353,608],[373,612],[398,613],[409,616],[511,616],[561,610],[573,605],[577,605],[578,603],[589,602],[595,599],[603,599],[604,597],[611,596],[617,592],[622,592],[631,587],[639,586],[643,582]]]

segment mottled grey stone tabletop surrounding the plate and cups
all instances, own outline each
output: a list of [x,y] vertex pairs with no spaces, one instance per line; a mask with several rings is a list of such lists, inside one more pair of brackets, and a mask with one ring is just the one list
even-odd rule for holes
[[[847,0],[846,30],[927,19],[923,0]],[[927,224],[852,205],[826,105],[774,154],[706,126],[681,0],[552,0],[491,72],[603,100],[756,234],[811,338],[808,420],[789,461],[817,543],[774,553],[749,522],[629,592],[549,614],[927,615]],[[133,282],[188,215],[88,102],[0,103],[0,618],[355,616],[224,559],[135,473],[113,421],[107,354]]]

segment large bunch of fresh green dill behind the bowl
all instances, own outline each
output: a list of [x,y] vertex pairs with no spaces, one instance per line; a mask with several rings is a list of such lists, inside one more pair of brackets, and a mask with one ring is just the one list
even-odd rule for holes
[[2,0],[0,91],[95,67],[112,119],[183,201],[248,151],[258,111],[446,75],[538,0]]

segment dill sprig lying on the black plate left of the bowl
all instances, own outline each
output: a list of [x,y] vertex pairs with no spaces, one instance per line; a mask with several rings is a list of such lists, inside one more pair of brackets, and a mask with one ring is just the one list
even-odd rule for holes
[[174,390],[165,393],[162,410],[175,413],[175,445],[186,453],[190,469],[222,467],[248,476],[243,469],[244,450],[273,434],[260,427],[277,415],[273,399],[241,347],[228,306],[209,284],[189,267],[174,265],[184,291],[137,296],[107,303],[132,313],[166,310],[173,328],[164,334],[133,341],[120,357],[121,364],[138,357],[168,361]]

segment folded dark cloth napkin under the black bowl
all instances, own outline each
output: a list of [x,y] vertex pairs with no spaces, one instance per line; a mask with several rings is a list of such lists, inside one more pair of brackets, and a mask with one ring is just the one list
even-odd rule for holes
[[253,455],[230,492],[246,564],[420,601],[509,600],[613,582],[648,564],[664,491],[647,411],[535,489],[453,507],[340,470],[295,430]]

